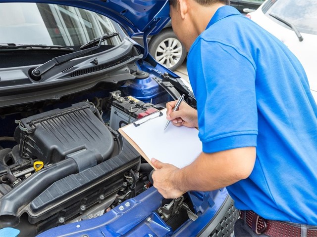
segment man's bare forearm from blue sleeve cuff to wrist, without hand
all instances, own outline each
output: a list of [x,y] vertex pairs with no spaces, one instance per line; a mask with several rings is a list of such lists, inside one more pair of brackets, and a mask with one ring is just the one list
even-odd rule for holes
[[175,188],[210,191],[226,187],[249,177],[255,158],[255,147],[201,153],[192,164],[175,171]]

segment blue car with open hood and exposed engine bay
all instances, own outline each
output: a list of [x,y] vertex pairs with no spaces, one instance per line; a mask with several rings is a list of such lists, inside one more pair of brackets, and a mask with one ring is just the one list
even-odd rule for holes
[[167,0],[0,0],[0,236],[232,235],[225,188],[163,198],[118,133],[181,94],[196,107],[148,53],[168,14]]

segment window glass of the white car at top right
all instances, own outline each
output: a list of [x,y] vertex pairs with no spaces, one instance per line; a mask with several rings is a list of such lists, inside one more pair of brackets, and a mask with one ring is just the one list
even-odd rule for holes
[[[269,0],[262,10],[268,17],[274,14],[293,24],[299,32],[317,35],[316,0]],[[285,26],[274,18],[272,20]]]

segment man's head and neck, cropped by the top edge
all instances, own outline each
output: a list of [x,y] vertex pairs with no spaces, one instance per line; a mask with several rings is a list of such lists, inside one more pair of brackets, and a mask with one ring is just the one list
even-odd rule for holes
[[172,28],[188,51],[215,11],[230,0],[169,0]]

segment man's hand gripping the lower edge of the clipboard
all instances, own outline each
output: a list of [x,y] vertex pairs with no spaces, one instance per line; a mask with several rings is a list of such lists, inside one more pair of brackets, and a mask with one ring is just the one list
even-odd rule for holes
[[186,191],[178,189],[173,183],[173,176],[179,171],[179,168],[172,164],[162,163],[159,160],[152,158],[153,165],[158,168],[153,172],[153,186],[165,198],[177,198],[182,196]]

